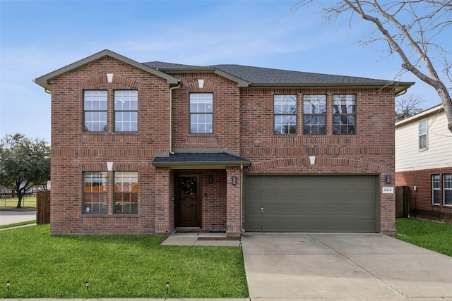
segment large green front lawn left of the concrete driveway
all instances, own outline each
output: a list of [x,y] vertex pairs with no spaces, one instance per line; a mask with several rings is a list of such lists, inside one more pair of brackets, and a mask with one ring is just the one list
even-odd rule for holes
[[239,247],[160,246],[165,238],[143,236],[50,236],[48,225],[0,236],[0,283],[11,283],[0,299],[248,297]]

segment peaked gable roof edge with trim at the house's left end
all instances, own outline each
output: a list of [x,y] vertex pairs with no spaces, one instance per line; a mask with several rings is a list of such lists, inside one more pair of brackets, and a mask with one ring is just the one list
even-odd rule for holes
[[37,85],[40,85],[41,87],[44,87],[46,90],[52,90],[52,87],[49,85],[49,80],[52,80],[52,78],[57,78],[58,76],[67,73],[71,70],[74,70],[76,68],[79,68],[81,66],[84,66],[88,63],[91,63],[92,61],[95,61],[97,59],[100,59],[104,56],[111,56],[114,59],[117,59],[119,61],[123,61],[124,63],[128,63],[129,65],[136,67],[138,69],[144,70],[148,73],[151,73],[153,75],[157,75],[160,78],[163,78],[167,80],[169,84],[176,85],[179,82],[179,79],[174,78],[174,76],[169,75],[167,73],[163,73],[159,70],[156,70],[155,68],[150,68],[149,66],[145,66],[142,63],[138,63],[136,61],[133,61],[129,58],[126,58],[125,56],[121,56],[120,54],[117,54],[116,52],[110,51],[108,49],[102,50],[100,52],[97,52],[97,54],[93,54],[92,56],[88,56],[85,59],[81,59],[80,61],[76,61],[75,63],[71,63],[68,66],[65,66],[63,68],[59,68],[58,70],[54,70],[51,73],[47,73],[46,75],[42,75],[40,78],[36,78],[33,80]]

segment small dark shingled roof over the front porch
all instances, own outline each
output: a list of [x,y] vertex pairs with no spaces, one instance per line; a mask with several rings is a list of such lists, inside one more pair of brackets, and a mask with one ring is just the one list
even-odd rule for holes
[[160,153],[153,159],[153,166],[171,169],[225,169],[251,164],[251,161],[225,149],[174,149],[174,154]]

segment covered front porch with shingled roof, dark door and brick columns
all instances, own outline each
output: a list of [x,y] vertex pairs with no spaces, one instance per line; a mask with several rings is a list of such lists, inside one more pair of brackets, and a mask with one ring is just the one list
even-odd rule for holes
[[243,166],[250,161],[225,152],[156,156],[155,235],[242,234]]

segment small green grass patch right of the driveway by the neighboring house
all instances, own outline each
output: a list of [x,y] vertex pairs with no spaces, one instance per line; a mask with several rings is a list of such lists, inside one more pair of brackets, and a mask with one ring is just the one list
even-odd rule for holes
[[396,238],[452,257],[452,224],[396,219]]

